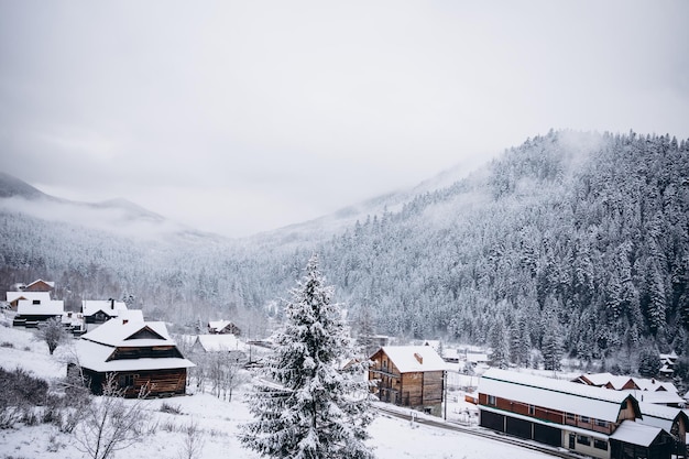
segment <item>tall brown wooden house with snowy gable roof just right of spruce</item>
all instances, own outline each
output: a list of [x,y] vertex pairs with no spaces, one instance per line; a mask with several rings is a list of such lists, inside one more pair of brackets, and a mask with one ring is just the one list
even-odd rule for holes
[[385,346],[371,360],[369,380],[381,401],[441,414],[448,364],[430,346]]

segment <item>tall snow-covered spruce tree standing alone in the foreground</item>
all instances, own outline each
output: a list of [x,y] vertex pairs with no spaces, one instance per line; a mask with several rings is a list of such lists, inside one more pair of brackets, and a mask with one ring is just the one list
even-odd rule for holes
[[255,420],[243,426],[240,440],[271,458],[373,458],[364,445],[373,419],[368,385],[360,378],[365,367],[341,370],[354,349],[317,255],[297,284],[266,364],[271,382],[256,385],[250,400]]

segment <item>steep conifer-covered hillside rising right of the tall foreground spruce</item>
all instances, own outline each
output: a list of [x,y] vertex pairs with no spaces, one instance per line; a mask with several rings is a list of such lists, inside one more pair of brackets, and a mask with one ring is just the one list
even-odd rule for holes
[[[380,331],[553,341],[580,358],[687,349],[689,144],[550,132],[335,238],[326,272]],[[544,349],[547,351],[547,349]]]

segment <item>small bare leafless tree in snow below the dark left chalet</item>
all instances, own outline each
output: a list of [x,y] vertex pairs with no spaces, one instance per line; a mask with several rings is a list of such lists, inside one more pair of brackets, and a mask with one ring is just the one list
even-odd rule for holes
[[141,441],[146,433],[145,390],[136,400],[124,401],[123,394],[124,390],[117,385],[117,376],[110,374],[103,384],[102,396],[86,406],[76,429],[76,439],[77,449],[89,458],[110,458],[114,451]]

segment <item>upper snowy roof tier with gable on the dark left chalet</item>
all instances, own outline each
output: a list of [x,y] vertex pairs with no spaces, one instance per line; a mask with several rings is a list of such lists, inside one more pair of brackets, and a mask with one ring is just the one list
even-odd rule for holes
[[[139,331],[149,329],[157,337],[146,337],[143,339],[132,338]],[[169,335],[167,327],[162,321],[139,321],[128,320],[120,317],[113,318],[103,325],[92,329],[81,337],[83,340],[99,342],[106,346],[171,346],[175,345]]]

